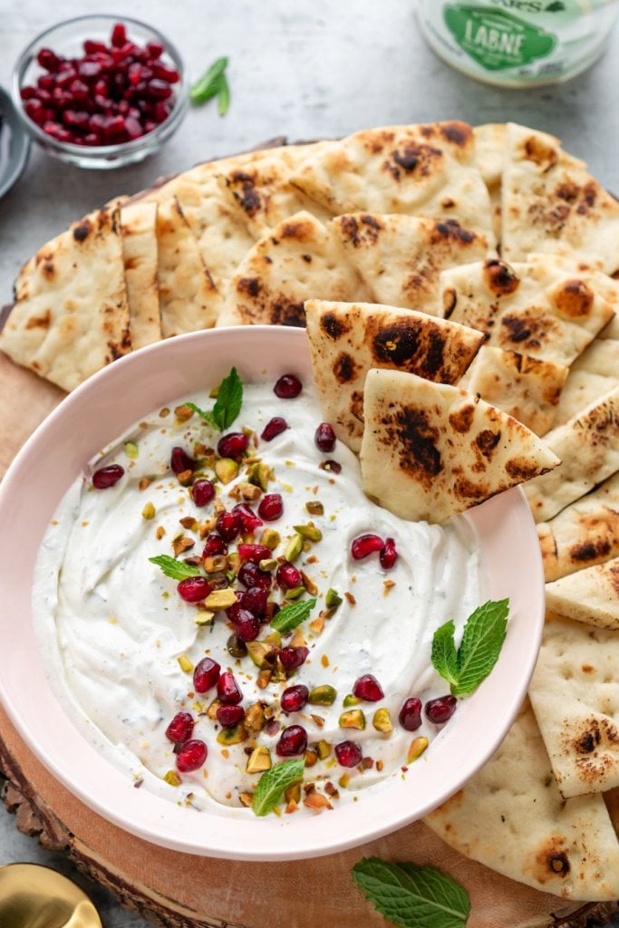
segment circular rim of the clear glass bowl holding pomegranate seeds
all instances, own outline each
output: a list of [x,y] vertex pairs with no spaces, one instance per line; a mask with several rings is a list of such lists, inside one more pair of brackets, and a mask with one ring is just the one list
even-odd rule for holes
[[[139,138],[132,139],[129,142],[92,146],[74,145],[72,142],[60,142],[57,138],[54,138],[53,135],[47,135],[36,122],[32,121],[24,110],[23,100],[20,96],[23,76],[32,64],[32,61],[36,60],[36,53],[45,38],[53,35],[54,32],[57,32],[58,29],[64,28],[65,26],[73,26],[78,23],[86,23],[96,19],[105,19],[109,22],[123,22],[123,24],[127,26],[136,26],[138,29],[151,32],[155,38],[161,41],[164,54],[167,54],[173,59],[174,67],[180,75],[180,81],[176,84],[178,89],[174,92],[174,107],[164,122],[160,122],[151,132],[140,135]],[[176,48],[176,45],[155,26],[151,26],[141,19],[120,15],[115,16],[113,13],[88,13],[84,14],[84,16],[71,17],[71,19],[62,19],[53,26],[49,26],[44,32],[40,32],[35,36],[32,41],[22,49],[19,58],[13,65],[13,71],[11,73],[11,97],[19,120],[26,131],[45,148],[58,150],[76,158],[82,158],[84,161],[94,161],[95,159],[111,160],[115,154],[131,154],[134,151],[140,151],[148,145],[154,146],[155,144],[161,144],[174,133],[187,112],[187,68],[185,66],[185,60]]]

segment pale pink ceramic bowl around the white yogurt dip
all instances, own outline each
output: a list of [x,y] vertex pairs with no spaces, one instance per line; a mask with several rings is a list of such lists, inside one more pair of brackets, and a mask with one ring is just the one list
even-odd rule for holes
[[101,757],[58,704],[32,631],[34,564],[49,520],[84,463],[135,420],[216,383],[290,370],[311,378],[301,329],[213,329],[159,342],[107,367],[65,399],[32,435],[0,486],[0,699],[23,740],[71,793],[126,831],[193,854],[245,860],[317,857],[363,844],[420,818],[455,793],[506,735],[533,673],[544,621],[535,524],[520,488],[466,515],[482,549],[488,598],[509,596],[508,636],[493,673],[432,741],[415,776],[316,817],[225,818],[179,807]]

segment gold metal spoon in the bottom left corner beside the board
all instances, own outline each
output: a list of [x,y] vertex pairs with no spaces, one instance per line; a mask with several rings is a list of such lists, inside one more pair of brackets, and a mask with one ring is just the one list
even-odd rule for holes
[[0,925],[102,928],[97,909],[79,886],[39,864],[0,867]]

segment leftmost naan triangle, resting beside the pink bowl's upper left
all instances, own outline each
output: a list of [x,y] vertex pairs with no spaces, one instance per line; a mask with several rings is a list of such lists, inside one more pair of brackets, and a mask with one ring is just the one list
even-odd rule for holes
[[72,390],[131,350],[119,210],[90,213],[19,272],[0,348]]

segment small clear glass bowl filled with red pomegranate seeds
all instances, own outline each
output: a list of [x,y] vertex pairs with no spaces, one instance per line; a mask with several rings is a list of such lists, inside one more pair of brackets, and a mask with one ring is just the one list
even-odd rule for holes
[[183,60],[136,19],[83,16],[42,32],[13,71],[13,100],[45,151],[83,168],[142,161],[187,111]]

